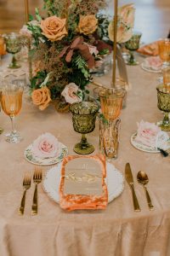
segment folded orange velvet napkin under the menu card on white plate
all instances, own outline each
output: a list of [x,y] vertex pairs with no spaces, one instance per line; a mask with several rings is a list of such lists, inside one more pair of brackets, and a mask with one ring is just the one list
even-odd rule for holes
[[[65,195],[65,165],[70,161],[82,156],[69,155],[64,158],[61,167],[61,181],[59,185],[59,205],[61,208],[67,211],[79,210],[79,209],[105,209],[108,203],[108,191],[105,184],[106,168],[105,168],[105,156],[102,154],[83,156],[82,158],[89,158],[98,161],[102,170],[102,193],[101,195]],[[83,159],[82,159],[83,164]]]

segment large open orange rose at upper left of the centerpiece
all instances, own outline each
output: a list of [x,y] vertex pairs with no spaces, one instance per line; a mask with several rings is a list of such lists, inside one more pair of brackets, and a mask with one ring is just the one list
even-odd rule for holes
[[42,35],[52,42],[61,40],[67,35],[65,23],[66,19],[59,19],[57,16],[51,16],[42,20]]

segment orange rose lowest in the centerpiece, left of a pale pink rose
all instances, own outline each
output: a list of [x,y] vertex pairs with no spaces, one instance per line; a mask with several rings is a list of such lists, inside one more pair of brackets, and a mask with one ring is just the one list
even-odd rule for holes
[[33,90],[31,94],[32,102],[39,106],[40,110],[44,110],[51,102],[50,90],[44,86],[41,89]]

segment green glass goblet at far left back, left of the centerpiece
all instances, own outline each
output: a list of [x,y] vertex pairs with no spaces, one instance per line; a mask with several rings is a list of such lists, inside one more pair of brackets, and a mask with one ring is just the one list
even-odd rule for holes
[[12,61],[8,65],[8,67],[19,68],[20,65],[17,63],[15,54],[20,52],[21,49],[20,34],[11,32],[9,34],[4,35],[4,39],[8,53],[11,53],[13,55]]

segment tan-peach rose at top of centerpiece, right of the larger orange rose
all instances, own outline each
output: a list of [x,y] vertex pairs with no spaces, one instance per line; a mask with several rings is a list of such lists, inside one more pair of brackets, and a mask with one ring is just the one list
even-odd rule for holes
[[98,26],[98,19],[95,15],[81,16],[78,24],[78,32],[89,35],[92,34]]

